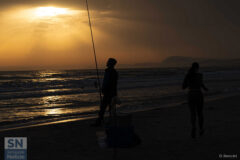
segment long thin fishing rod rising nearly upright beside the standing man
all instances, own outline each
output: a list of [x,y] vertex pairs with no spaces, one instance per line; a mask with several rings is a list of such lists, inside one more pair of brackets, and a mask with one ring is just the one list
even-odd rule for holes
[[95,43],[94,43],[94,37],[93,37],[93,31],[92,31],[92,22],[91,22],[89,7],[88,7],[88,0],[86,0],[86,6],[87,6],[87,12],[88,12],[88,23],[89,23],[91,38],[92,38],[92,47],[93,47],[93,53],[94,53],[94,59],[95,59],[95,67],[96,67],[96,72],[97,72],[97,83],[98,83],[98,88],[99,88],[99,98],[100,98],[100,102],[102,103],[102,88],[101,88],[101,82],[100,82],[100,78],[99,78],[97,54],[96,54],[96,49],[95,49]]

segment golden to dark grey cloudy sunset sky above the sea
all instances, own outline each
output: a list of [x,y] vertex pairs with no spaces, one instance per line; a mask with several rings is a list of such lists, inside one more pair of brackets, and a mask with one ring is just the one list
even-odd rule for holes
[[[240,58],[238,0],[89,0],[100,66]],[[0,70],[91,68],[85,0],[1,0]]]

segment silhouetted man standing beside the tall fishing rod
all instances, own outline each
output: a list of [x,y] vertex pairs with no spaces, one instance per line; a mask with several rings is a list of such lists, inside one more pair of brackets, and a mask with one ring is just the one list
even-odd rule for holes
[[109,58],[107,61],[107,69],[105,69],[102,84],[103,99],[100,105],[99,117],[95,124],[96,126],[102,124],[107,106],[111,109],[112,99],[117,96],[118,72],[114,69],[116,64],[117,61],[114,58]]

